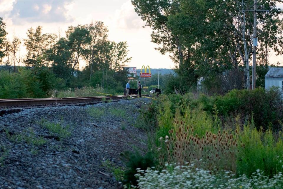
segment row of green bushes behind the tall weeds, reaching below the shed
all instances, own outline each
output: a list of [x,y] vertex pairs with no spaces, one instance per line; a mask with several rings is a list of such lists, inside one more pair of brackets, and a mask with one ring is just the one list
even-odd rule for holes
[[[180,111],[181,115],[185,114],[187,108],[201,109],[208,115],[215,115],[218,111],[218,116],[224,122],[232,116],[247,117],[249,121],[254,117],[255,127],[267,130],[271,125],[272,130],[281,128],[283,120],[283,101],[281,99],[281,91],[278,88],[264,90],[257,88],[255,90],[232,90],[224,96],[206,96],[199,95],[198,99],[194,99],[194,95],[187,93],[185,95],[160,95],[157,102],[154,102],[155,107],[151,106],[151,112],[157,117],[163,116],[164,106],[170,106],[171,114],[174,117],[176,111]],[[160,112],[160,114],[159,114]],[[167,112],[168,114],[169,112]],[[145,112],[144,115],[146,115]],[[147,119],[149,116],[144,116]],[[157,123],[157,122],[156,122]],[[155,125],[157,127],[157,124]],[[162,136],[164,137],[164,136]]]

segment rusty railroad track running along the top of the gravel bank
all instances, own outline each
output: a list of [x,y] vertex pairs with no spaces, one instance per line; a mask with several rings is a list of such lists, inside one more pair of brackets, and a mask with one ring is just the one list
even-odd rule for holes
[[[137,95],[129,95],[131,98]],[[143,96],[149,96],[144,94]],[[43,98],[43,99],[0,99],[0,116],[7,113],[20,112],[24,109],[50,106],[78,105],[84,106],[96,104],[106,100],[118,101],[128,99],[126,95],[99,96],[99,97],[68,97],[68,98]]]

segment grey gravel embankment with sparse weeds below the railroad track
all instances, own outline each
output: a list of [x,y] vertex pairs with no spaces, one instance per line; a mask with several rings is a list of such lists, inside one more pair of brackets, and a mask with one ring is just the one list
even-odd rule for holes
[[[145,106],[133,99],[0,117],[0,188],[122,188],[103,162],[123,167],[122,152],[146,150],[136,104]],[[65,128],[62,135],[48,124]]]

